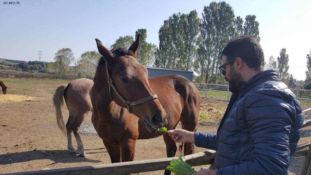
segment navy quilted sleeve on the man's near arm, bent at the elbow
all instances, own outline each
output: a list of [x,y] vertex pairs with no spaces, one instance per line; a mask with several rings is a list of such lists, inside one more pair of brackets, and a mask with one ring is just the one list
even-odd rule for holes
[[248,162],[219,168],[217,174],[288,174],[289,133],[296,118],[293,99],[279,90],[261,90],[247,97],[244,113],[254,157]]

